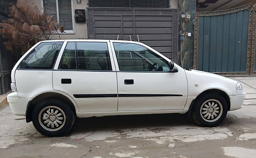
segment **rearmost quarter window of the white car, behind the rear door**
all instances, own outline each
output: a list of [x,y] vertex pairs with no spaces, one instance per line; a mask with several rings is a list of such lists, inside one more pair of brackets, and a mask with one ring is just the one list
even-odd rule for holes
[[43,42],[20,63],[20,69],[52,69],[63,42]]

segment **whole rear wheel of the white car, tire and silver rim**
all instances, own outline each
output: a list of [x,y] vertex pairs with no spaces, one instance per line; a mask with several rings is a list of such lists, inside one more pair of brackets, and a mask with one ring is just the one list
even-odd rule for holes
[[67,133],[74,125],[74,121],[74,112],[60,99],[43,100],[32,112],[32,122],[36,130],[50,137]]

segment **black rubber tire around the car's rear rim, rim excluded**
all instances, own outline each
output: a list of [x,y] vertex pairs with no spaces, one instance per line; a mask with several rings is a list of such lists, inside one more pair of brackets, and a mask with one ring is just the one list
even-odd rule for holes
[[[66,122],[64,126],[57,131],[48,131],[44,129],[39,123],[39,120],[38,120],[39,113],[42,109],[44,109],[47,106],[59,107],[66,115]],[[67,133],[74,125],[74,120],[75,120],[74,113],[72,112],[68,104],[60,99],[51,98],[51,99],[43,100],[42,102],[38,103],[32,111],[32,122],[36,130],[41,134],[49,137],[61,136]]]

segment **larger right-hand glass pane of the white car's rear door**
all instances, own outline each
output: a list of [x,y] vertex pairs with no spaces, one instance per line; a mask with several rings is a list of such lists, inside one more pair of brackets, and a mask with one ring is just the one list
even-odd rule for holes
[[77,42],[79,70],[112,70],[105,42]]

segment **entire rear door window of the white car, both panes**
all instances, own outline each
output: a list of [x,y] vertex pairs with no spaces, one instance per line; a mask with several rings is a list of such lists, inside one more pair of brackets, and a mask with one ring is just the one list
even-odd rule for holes
[[68,42],[60,69],[111,71],[108,46],[105,42]]

